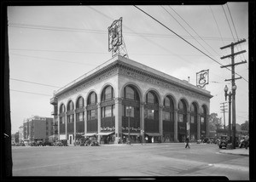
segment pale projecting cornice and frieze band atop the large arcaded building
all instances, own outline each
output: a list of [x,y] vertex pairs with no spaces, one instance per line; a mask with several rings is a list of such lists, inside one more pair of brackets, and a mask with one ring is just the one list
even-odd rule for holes
[[113,59],[108,60],[104,64],[99,65],[93,71],[90,71],[73,82],[70,82],[65,87],[60,88],[55,92],[55,97],[63,94],[65,96],[73,92],[73,90],[79,92],[79,90],[90,87],[97,82],[102,82],[102,80],[107,79],[108,77],[113,77],[117,74],[125,77],[132,77],[143,82],[149,82],[158,87],[167,88],[174,92],[199,97],[202,100],[210,100],[212,98],[212,95],[207,90],[197,88],[189,82],[184,82],[176,77],[172,77],[166,73],[154,70],[153,68],[119,55],[113,57]]

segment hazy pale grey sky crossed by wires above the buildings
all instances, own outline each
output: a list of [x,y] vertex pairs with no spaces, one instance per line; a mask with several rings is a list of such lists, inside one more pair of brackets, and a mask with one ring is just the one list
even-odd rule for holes
[[236,65],[236,123],[248,120],[248,3],[137,7],[172,31],[134,6],[8,7],[12,134],[26,118],[52,117],[55,90],[112,58],[108,26],[120,17],[129,59],[194,85],[196,72],[209,69],[210,113],[222,118],[231,71],[220,66],[231,60],[220,58],[231,52],[220,48],[246,39],[235,47],[247,51],[235,57],[247,60]]

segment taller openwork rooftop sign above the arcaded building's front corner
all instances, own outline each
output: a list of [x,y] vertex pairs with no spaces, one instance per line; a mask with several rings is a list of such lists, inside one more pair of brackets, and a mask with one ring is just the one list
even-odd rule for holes
[[108,51],[112,51],[112,57],[119,54],[119,46],[122,45],[122,17],[114,20],[108,27]]

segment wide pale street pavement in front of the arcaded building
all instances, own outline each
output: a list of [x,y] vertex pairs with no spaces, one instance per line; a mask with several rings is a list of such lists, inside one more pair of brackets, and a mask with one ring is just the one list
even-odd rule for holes
[[[14,176],[226,176],[249,179],[246,149],[183,143],[101,146],[14,146]],[[240,152],[238,152],[240,151]]]

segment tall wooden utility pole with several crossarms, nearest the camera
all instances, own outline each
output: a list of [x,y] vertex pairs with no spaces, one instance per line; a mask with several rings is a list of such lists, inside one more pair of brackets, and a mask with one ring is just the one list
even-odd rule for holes
[[224,48],[231,48],[231,54],[229,55],[225,55],[223,57],[221,57],[220,59],[223,60],[225,58],[231,58],[231,64],[230,65],[223,65],[220,66],[221,68],[224,67],[228,67],[231,66],[231,79],[225,79],[225,81],[231,81],[232,82],[232,145],[233,145],[233,149],[236,149],[236,79],[241,79],[241,77],[235,77],[235,65],[240,65],[240,64],[244,64],[247,63],[246,60],[241,61],[239,63],[235,63],[235,56],[237,54],[242,54],[245,53],[246,50],[242,50],[239,52],[234,53],[234,47],[237,44],[240,43],[244,43],[246,42],[246,39],[242,39],[236,43],[230,43],[230,45],[224,46],[220,49],[224,49]]

